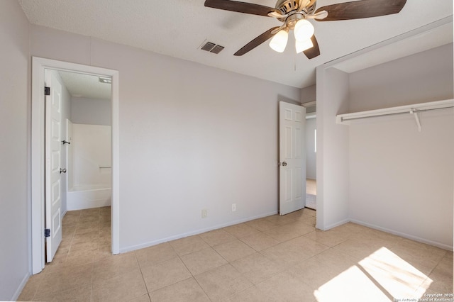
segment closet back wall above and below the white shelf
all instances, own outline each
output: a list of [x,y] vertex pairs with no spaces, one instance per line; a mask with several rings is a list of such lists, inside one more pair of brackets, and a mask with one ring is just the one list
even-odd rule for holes
[[[350,111],[453,98],[453,45],[350,74]],[[453,110],[349,126],[350,218],[453,247]]]

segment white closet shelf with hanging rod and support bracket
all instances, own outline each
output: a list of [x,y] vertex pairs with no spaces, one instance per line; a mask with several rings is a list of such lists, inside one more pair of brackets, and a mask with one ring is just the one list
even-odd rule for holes
[[338,114],[336,116],[336,123],[348,124],[350,121],[358,120],[360,118],[375,118],[379,116],[393,116],[395,114],[410,113],[414,115],[419,131],[421,131],[421,123],[419,122],[418,113],[423,111],[431,111],[438,109],[454,108],[454,99],[443,101],[431,101],[427,103],[411,104],[405,106],[389,107],[369,111],[360,111],[354,113]]

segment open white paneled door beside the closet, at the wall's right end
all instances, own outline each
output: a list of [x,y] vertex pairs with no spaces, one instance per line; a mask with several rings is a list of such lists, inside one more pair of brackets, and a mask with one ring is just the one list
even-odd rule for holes
[[306,203],[306,108],[279,102],[279,215]]

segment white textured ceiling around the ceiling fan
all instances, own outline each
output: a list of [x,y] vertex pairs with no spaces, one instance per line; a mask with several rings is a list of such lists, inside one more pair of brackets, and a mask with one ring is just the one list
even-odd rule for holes
[[[28,20],[72,33],[140,47],[184,60],[303,88],[315,84],[316,66],[383,40],[453,16],[451,0],[408,0],[399,14],[349,21],[312,21],[321,55],[308,60],[263,43],[242,57],[233,53],[269,28],[275,18],[204,7],[204,0],[18,0]],[[250,0],[275,6],[274,0]],[[318,0],[317,7],[343,2]],[[452,42],[452,26],[447,27]],[[291,37],[292,35],[289,35]],[[226,47],[218,55],[199,50],[204,40]],[[435,40],[435,41],[432,41]],[[427,39],[424,48],[444,42]],[[429,43],[433,43],[430,44]],[[409,46],[400,45],[402,52]],[[389,59],[389,58],[387,58]]]

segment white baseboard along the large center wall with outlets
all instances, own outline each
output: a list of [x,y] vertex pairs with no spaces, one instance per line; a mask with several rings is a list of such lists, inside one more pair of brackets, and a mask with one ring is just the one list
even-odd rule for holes
[[234,220],[234,221],[231,221],[231,222],[228,222],[228,223],[222,223],[220,225],[213,225],[213,226],[210,226],[208,228],[201,228],[199,230],[193,230],[193,231],[190,231],[190,232],[187,232],[187,233],[181,233],[181,234],[178,234],[178,235],[165,237],[165,238],[158,239],[158,240],[145,242],[145,243],[140,244],[140,245],[131,245],[129,247],[123,247],[123,248],[120,248],[120,253],[131,252],[133,250],[139,250],[139,249],[143,249],[145,247],[151,247],[153,245],[159,245],[160,243],[169,242],[169,241],[172,241],[172,240],[177,240],[177,239],[188,237],[188,236],[192,236],[192,235],[198,235],[198,234],[201,234],[201,233],[209,232],[210,230],[217,230],[219,228],[226,228],[226,227],[228,227],[230,225],[236,225],[238,223],[245,223],[245,222],[250,221],[250,220],[263,218],[263,217],[267,217],[267,216],[271,216],[271,215],[275,215],[275,214],[277,214],[277,211],[274,211],[274,212],[271,212],[271,213],[264,213],[264,214],[261,214],[259,216],[254,216],[254,217],[250,217],[250,218],[243,218],[243,219],[240,219],[240,220]]

